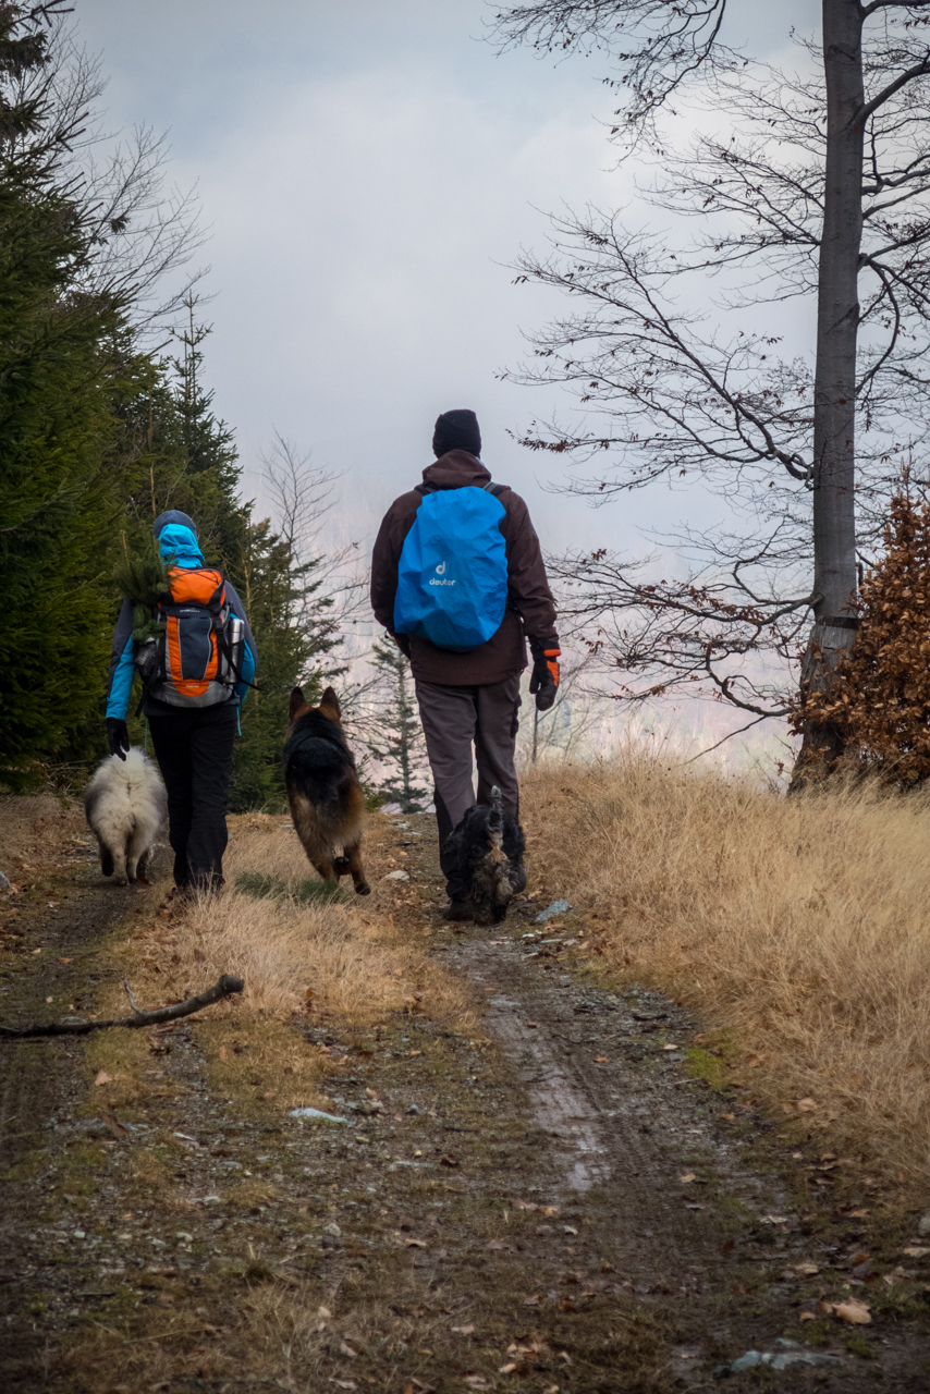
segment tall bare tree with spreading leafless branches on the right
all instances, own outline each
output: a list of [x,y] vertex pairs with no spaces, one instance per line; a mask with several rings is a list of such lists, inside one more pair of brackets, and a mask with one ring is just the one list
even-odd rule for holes
[[[566,383],[594,414],[534,425],[524,443],[607,452],[600,477],[570,485],[600,502],[697,477],[733,519],[675,538],[696,562],[685,583],[647,584],[607,552],[565,559],[569,612],[633,675],[627,697],[696,683],[761,718],[791,705],[786,664],[811,618],[803,683],[828,683],[852,643],[856,549],[926,421],[930,0],[823,0],[796,74],[728,49],[725,7],[540,0],[502,11],[496,32],[604,50],[629,93],[612,135],[646,142],[662,169],[651,199],[697,224],[668,247],[588,209],[519,268],[576,309],[514,376]],[[673,151],[657,120],[689,85],[717,130]],[[811,351],[795,360],[759,328],[760,307],[781,302],[816,304]],[[811,726],[802,754],[834,746]]]

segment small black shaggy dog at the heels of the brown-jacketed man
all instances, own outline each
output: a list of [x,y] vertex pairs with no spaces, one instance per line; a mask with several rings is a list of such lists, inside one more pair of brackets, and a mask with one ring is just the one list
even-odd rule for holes
[[473,803],[449,834],[445,852],[455,859],[462,880],[471,887],[475,924],[499,924],[514,895],[526,887],[523,828],[501,806],[501,790],[491,790],[491,807]]

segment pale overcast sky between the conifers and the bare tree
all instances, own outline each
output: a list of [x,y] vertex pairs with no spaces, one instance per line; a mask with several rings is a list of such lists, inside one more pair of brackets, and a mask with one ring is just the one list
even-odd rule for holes
[[[735,0],[732,36],[786,46],[811,0]],[[558,406],[498,381],[521,328],[563,307],[514,287],[548,210],[634,199],[602,120],[602,60],[498,56],[482,0],[75,0],[110,128],[169,132],[209,241],[206,376],[250,491],[275,429],[342,474],[343,535],[369,542],[432,459],[436,414],[478,413],[484,459],[530,502],[544,545],[632,545],[680,495],[591,512],[552,496],[548,459],[508,436]]]

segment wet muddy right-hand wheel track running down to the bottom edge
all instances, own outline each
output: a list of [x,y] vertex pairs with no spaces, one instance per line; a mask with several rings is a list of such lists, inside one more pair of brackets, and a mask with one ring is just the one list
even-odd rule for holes
[[[475,930],[438,953],[485,995],[488,1034],[541,1133],[540,1179],[579,1216],[579,1245],[595,1235],[623,1287],[668,1323],[679,1387],[717,1387],[715,1369],[750,1349],[823,1361],[779,1369],[784,1391],[811,1379],[837,1390],[871,1390],[876,1379],[922,1387],[929,1352],[916,1333],[874,1333],[881,1361],[870,1366],[848,1354],[839,1327],[820,1352],[786,1340],[811,1305],[796,1266],[813,1255],[827,1269],[835,1246],[793,1209],[779,1172],[759,1170],[735,1140],[725,1119],[739,1103],[682,1072],[690,1013],[643,987],[594,987],[519,937]],[[743,1108],[753,1133],[770,1126]],[[726,1387],[756,1381],[735,1373]]]

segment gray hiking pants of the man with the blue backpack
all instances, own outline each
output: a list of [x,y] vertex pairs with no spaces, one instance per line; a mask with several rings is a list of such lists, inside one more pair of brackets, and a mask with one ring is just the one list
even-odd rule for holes
[[520,789],[513,763],[520,708],[520,675],[502,683],[477,687],[446,687],[417,680],[420,719],[427,737],[427,754],[435,783],[439,825],[439,864],[449,878],[450,896],[467,887],[453,877],[455,867],[443,856],[445,841],[475,802],[471,749],[478,765],[478,803],[488,803],[498,786],[505,813],[520,815]]

